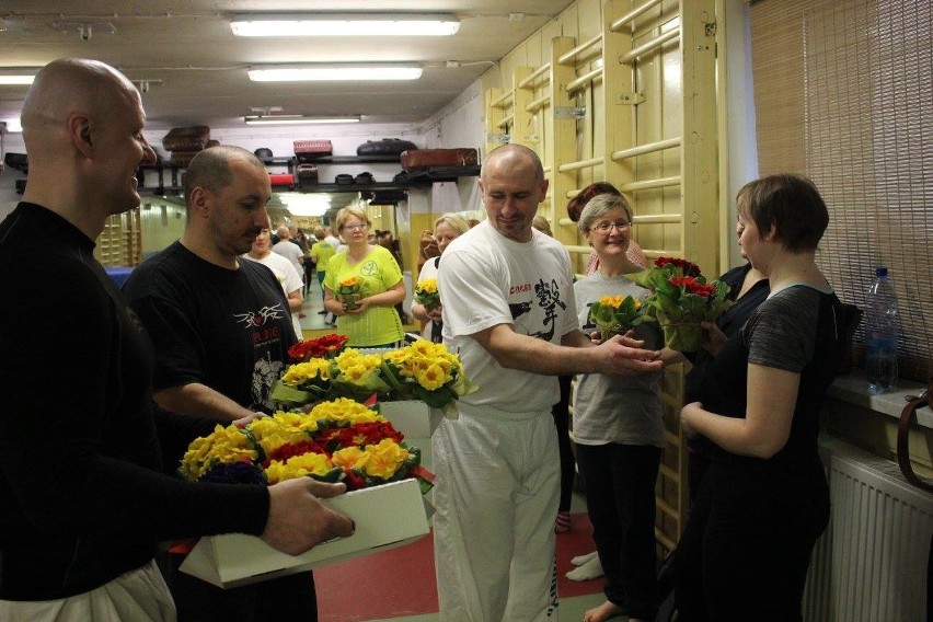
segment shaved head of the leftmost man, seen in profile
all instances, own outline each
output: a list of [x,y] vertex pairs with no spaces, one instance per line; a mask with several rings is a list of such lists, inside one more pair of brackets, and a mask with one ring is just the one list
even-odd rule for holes
[[59,214],[95,239],[110,216],[139,205],[138,170],[156,161],[142,136],[139,92],[119,71],[81,58],[53,60],[26,92],[23,200]]

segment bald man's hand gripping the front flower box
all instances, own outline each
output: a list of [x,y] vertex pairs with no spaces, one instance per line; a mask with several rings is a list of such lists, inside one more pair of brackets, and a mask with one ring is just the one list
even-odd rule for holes
[[269,486],[269,517],[261,538],[283,553],[300,555],[332,538],[353,535],[353,520],[320,502],[345,492],[344,484],[325,484],[310,477]]

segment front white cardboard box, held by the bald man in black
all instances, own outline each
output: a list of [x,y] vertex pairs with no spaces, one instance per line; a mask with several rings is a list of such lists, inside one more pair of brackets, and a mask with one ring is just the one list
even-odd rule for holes
[[404,480],[322,499],[350,517],[356,531],[301,555],[273,549],[255,535],[201,538],[181,569],[218,587],[239,587],[343,562],[414,542],[428,533],[433,512],[416,480]]

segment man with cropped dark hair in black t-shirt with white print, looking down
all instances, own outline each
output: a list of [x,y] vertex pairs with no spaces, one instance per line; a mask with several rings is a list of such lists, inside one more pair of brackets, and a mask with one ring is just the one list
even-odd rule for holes
[[[195,417],[249,419],[269,413],[272,383],[296,342],[281,286],[266,266],[240,257],[269,226],[263,163],[239,147],[198,153],[185,174],[182,238],[153,255],[124,290],[156,346],[153,398]],[[173,548],[173,568],[186,556]],[[181,622],[316,620],[311,573],[220,589],[175,572]]]

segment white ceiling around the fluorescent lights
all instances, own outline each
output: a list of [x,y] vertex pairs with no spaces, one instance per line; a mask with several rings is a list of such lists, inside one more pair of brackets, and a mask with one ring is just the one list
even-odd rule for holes
[[[251,107],[285,114],[361,114],[364,123],[417,124],[574,0],[8,0],[0,4],[0,66],[38,67],[55,58],[95,58],[131,80],[161,81],[143,93],[147,125],[243,127]],[[461,20],[450,37],[234,37],[229,21],[247,12],[444,12]],[[55,23],[111,24],[113,34]],[[246,67],[269,62],[415,61],[413,82],[251,82]],[[457,61],[459,67],[448,67]],[[24,87],[0,85],[0,120],[15,118]]]

